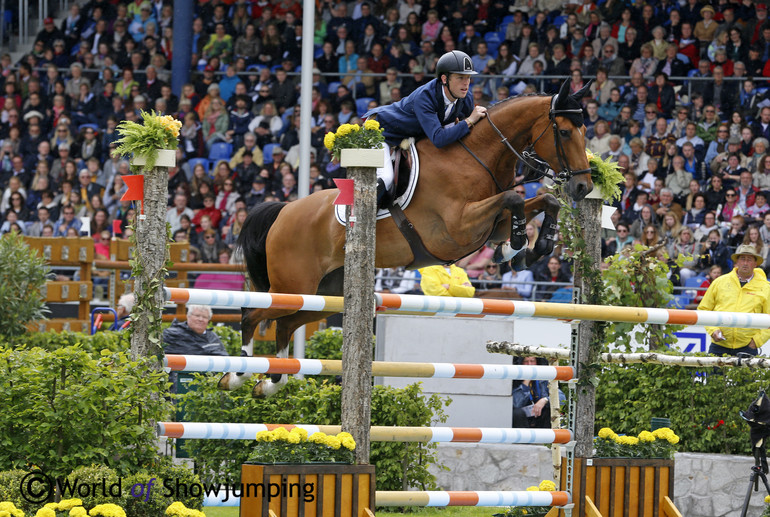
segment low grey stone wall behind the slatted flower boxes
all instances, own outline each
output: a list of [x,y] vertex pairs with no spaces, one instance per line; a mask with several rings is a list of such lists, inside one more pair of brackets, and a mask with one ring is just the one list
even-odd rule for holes
[[[526,490],[553,479],[551,450],[542,445],[438,444],[430,471],[445,490]],[[681,453],[674,458],[674,504],[687,517],[738,517],[754,459]],[[761,515],[766,491],[752,492],[748,515]]]

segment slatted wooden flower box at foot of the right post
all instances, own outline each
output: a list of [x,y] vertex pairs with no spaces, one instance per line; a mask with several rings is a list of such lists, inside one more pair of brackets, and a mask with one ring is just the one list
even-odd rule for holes
[[[658,517],[664,499],[674,499],[674,460],[575,458],[573,473],[576,517],[586,515],[586,496],[604,517]],[[566,490],[566,461],[561,479],[561,489]]]

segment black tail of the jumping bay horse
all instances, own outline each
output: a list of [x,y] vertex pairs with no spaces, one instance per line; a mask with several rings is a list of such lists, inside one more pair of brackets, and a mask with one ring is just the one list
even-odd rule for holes
[[267,276],[267,232],[278,218],[278,214],[286,203],[260,203],[254,207],[243,223],[238,236],[237,246],[243,251],[246,269],[249,271],[254,289],[260,292],[270,290],[270,279]]

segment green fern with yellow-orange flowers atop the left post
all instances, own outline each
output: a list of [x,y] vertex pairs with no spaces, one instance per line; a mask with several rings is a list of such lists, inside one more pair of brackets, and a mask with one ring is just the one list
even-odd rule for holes
[[179,147],[179,130],[182,123],[170,115],[161,116],[153,110],[150,113],[141,112],[143,123],[124,120],[118,124],[121,135],[117,151],[121,156],[146,156],[147,163],[143,169],[152,170],[158,159],[159,149],[176,149]]

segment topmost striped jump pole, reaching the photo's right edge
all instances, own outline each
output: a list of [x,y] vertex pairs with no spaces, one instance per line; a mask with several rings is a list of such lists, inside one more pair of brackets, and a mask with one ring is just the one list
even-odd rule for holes
[[[321,312],[342,312],[344,308],[341,296],[181,288],[164,288],[164,290],[166,300],[175,303],[196,303],[215,307],[272,308]],[[607,305],[577,305],[526,302],[521,300],[452,298],[384,293],[376,293],[375,300],[378,310],[398,314],[453,315],[475,318],[550,318],[653,323],[660,325],[694,325],[701,327],[770,328],[770,314],[612,307]]]

